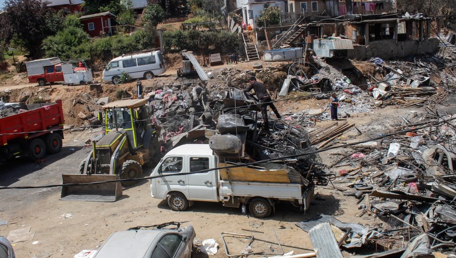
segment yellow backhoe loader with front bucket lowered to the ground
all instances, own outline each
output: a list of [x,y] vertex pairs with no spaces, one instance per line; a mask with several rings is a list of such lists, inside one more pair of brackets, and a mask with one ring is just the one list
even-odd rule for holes
[[[142,176],[143,165],[161,157],[157,128],[147,120],[147,99],[120,100],[102,107],[103,137],[92,142],[92,151],[81,162],[80,174],[62,175],[63,184],[92,183]],[[102,119],[99,112],[98,119]],[[137,181],[126,181],[131,185]],[[122,196],[119,182],[62,187],[62,200],[116,201]]]

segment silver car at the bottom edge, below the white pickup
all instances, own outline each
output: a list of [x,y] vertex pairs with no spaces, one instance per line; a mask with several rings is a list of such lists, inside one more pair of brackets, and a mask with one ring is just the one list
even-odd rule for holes
[[[170,225],[177,228],[164,228]],[[195,230],[191,225],[179,226],[180,223],[166,223],[116,232],[104,242],[94,258],[190,258]],[[149,229],[151,227],[155,229]]]

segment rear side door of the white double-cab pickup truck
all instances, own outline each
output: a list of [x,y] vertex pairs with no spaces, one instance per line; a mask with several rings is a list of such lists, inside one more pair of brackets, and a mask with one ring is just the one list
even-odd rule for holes
[[[188,156],[190,172],[214,167],[210,157]],[[217,180],[215,170],[188,175],[188,192],[192,200],[217,201]]]

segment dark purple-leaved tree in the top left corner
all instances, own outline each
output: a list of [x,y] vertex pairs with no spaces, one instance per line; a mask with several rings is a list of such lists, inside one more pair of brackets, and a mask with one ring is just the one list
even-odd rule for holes
[[40,49],[43,39],[55,33],[56,12],[39,0],[7,0],[0,16],[0,35],[5,42],[19,39],[20,47],[31,54]]

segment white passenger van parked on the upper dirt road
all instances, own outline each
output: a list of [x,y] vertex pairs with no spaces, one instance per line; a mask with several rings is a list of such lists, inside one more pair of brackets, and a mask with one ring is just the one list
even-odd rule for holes
[[165,59],[160,51],[123,55],[112,59],[103,71],[103,81],[119,83],[122,72],[133,79],[151,79],[166,71]]

